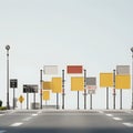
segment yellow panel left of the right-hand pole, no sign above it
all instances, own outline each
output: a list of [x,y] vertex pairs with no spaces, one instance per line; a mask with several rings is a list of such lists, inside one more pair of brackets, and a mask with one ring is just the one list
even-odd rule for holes
[[113,86],[113,73],[100,73],[100,88]]

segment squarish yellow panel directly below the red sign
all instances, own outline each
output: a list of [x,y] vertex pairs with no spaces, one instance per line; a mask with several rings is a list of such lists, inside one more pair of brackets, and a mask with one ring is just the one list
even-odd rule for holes
[[84,78],[71,78],[71,91],[83,91],[84,90]]

